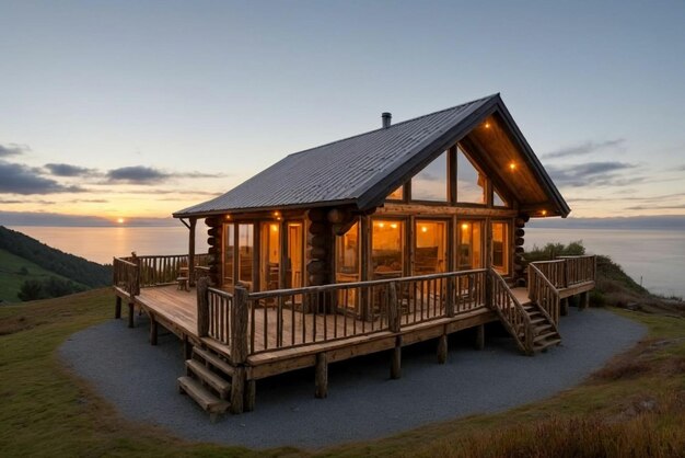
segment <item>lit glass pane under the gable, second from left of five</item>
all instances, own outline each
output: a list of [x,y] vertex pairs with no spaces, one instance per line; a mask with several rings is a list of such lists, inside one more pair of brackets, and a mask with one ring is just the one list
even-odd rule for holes
[[371,227],[373,278],[395,278],[403,274],[403,221],[374,220]]

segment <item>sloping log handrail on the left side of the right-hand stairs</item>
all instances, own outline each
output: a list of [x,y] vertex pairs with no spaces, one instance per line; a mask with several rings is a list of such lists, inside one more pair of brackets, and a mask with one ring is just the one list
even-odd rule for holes
[[531,318],[515,298],[502,276],[495,270],[489,272],[492,282],[492,308],[509,331],[519,348],[533,354],[533,329]]

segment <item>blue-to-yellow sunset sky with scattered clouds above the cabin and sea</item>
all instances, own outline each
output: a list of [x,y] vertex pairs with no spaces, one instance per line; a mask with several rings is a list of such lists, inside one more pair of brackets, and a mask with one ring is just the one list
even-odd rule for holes
[[169,218],[497,92],[571,217],[685,215],[683,24],[682,0],[0,0],[0,224]]

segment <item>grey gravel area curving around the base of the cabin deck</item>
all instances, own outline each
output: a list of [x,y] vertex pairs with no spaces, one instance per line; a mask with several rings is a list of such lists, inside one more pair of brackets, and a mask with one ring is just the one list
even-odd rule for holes
[[475,351],[463,332],[451,336],[444,365],[436,363],[434,342],[404,348],[398,380],[388,378],[387,354],[333,364],[324,400],[314,399],[313,369],[259,380],[254,412],[211,424],[176,392],[184,373],[178,340],[161,333],[159,345],[151,346],[144,318],[137,319],[135,330],[112,320],[73,334],[59,354],[125,417],[190,440],[251,448],[372,439],[537,401],[577,385],[647,332],[606,310],[571,308],[561,319],[561,346],[535,357],[521,356],[511,339],[494,336],[489,329],[485,350]]

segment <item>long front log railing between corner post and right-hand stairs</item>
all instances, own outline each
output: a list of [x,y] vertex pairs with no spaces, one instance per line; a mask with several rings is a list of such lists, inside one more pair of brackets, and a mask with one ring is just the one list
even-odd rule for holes
[[485,270],[247,295],[249,354],[413,325],[486,306]]

